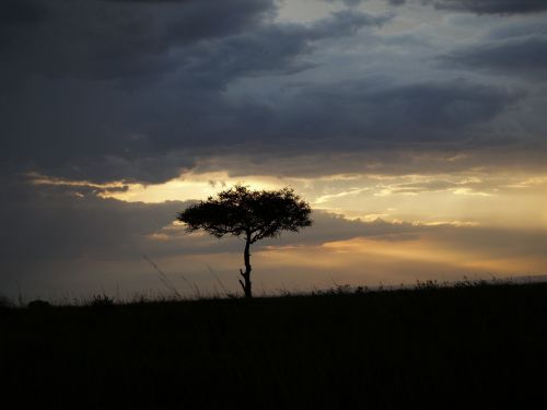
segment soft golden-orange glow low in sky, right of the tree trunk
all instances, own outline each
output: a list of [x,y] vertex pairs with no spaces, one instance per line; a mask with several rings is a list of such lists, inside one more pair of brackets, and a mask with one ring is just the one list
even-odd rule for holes
[[327,272],[348,283],[372,281],[397,284],[416,280],[447,281],[469,278],[511,278],[544,274],[547,256],[501,255],[488,247],[454,246],[442,238],[417,237],[409,241],[352,238],[319,246],[279,247],[257,251],[260,270],[286,269]]

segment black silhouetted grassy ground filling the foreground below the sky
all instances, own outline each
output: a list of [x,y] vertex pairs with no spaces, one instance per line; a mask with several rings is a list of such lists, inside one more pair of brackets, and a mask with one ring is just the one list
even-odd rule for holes
[[11,408],[547,401],[547,284],[0,308]]

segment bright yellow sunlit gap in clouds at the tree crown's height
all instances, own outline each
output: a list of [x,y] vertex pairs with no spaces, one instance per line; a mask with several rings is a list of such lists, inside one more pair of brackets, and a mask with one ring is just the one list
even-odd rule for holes
[[349,220],[455,226],[547,229],[547,176],[510,173],[437,175],[338,174],[322,177],[231,176],[187,172],[161,184],[91,183],[28,174],[34,185],[92,189],[125,202],[203,200],[243,184],[252,189],[294,188],[313,209]]

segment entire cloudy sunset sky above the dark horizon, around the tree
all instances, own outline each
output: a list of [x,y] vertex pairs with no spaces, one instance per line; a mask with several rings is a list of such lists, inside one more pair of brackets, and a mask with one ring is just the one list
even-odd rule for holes
[[0,294],[238,292],[178,211],[292,187],[255,293],[547,273],[547,1],[3,0]]

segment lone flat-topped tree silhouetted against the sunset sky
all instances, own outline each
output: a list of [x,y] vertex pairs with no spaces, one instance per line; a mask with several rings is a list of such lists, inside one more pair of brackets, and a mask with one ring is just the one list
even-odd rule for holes
[[245,297],[251,291],[251,245],[265,237],[276,237],[281,231],[298,232],[310,226],[310,204],[291,188],[280,190],[252,191],[242,185],[209,197],[179,212],[177,220],[186,223],[186,230],[203,230],[218,238],[224,235],[242,236],[245,239],[243,253],[245,272],[240,269],[240,284]]

